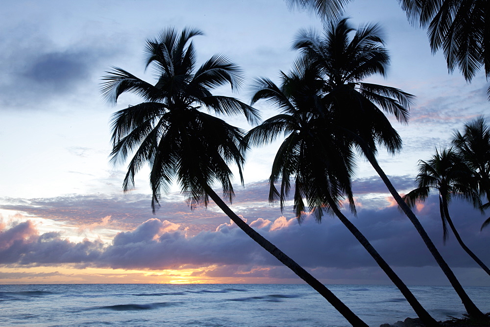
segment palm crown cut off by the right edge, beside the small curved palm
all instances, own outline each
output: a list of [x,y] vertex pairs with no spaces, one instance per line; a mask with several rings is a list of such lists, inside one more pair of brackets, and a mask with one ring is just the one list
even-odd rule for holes
[[[490,207],[490,128],[484,117],[465,124],[463,133],[456,131],[452,140],[455,150],[463,161],[473,170],[487,203],[483,208]],[[490,218],[485,220],[482,228],[490,224]]]

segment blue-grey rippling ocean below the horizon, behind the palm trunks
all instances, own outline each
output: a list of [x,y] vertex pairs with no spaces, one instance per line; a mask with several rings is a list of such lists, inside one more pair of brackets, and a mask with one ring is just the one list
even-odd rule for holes
[[[415,313],[388,285],[328,285],[369,326]],[[437,320],[465,312],[449,286],[410,286]],[[484,312],[489,287],[465,287]],[[303,284],[0,285],[0,326],[349,326]]]

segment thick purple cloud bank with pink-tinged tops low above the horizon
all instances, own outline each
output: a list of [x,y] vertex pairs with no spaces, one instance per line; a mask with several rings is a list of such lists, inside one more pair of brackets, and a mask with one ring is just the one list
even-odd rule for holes
[[[457,201],[450,210],[467,245],[484,262],[490,262],[487,250],[490,230],[479,232],[482,216]],[[357,218],[350,216],[347,210],[344,212],[393,267],[436,267],[415,228],[397,208],[360,209]],[[417,215],[450,266],[475,266],[453,237],[447,246],[442,246],[437,196],[430,197]],[[325,272],[325,278],[332,269],[343,269],[353,275],[356,269],[358,275],[366,269],[372,274],[379,269],[336,218],[325,216],[322,223],[317,224],[307,217],[298,224],[295,219],[280,216],[255,219],[250,225],[300,265]],[[109,245],[88,240],[74,243],[56,233],[40,235],[30,222],[5,227],[0,237],[0,263],[7,266],[72,263],[149,270],[215,266],[196,274],[208,277],[267,275],[270,278],[276,274],[274,278],[292,278],[288,269],[231,222],[212,231],[189,235],[185,225],[151,218],[134,230],[117,234]]]

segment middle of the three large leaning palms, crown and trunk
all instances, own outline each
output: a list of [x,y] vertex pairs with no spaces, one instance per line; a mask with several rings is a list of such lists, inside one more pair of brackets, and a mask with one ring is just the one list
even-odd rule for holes
[[[324,110],[323,83],[318,75],[315,67],[302,60],[296,62],[295,69],[289,74],[281,73],[280,88],[269,79],[255,81],[252,104],[265,99],[278,107],[281,113],[251,129],[245,140],[258,146],[285,135],[272,165],[269,200],[279,200],[283,210],[291,188],[290,181],[293,180],[294,212],[298,220],[303,219],[307,208],[318,222],[321,222],[324,211],[335,214],[400,289],[422,322],[427,326],[437,326],[436,320],[339,209],[346,197],[355,213],[351,190],[355,153],[342,131],[336,133],[335,117]],[[281,184],[280,190],[276,183]]]

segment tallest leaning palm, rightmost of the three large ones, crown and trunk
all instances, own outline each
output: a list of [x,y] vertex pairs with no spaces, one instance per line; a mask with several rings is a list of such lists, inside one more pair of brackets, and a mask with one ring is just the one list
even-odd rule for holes
[[320,67],[323,91],[327,93],[325,100],[338,121],[337,128],[343,128],[345,136],[351,139],[381,177],[455,288],[467,313],[483,317],[376,160],[377,145],[384,146],[391,153],[401,149],[401,139],[383,111],[407,123],[414,97],[392,87],[362,82],[374,74],[384,76],[389,55],[383,46],[383,32],[378,25],[368,24],[359,28],[350,38],[353,31],[346,19],[326,23],[323,38],[314,31],[304,30],[298,35],[294,48],[300,49],[303,56],[311,58]]

